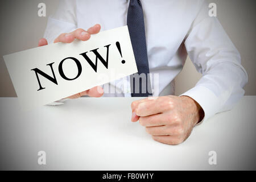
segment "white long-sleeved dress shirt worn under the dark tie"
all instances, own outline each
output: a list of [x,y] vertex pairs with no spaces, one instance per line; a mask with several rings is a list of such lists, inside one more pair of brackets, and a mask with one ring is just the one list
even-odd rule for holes
[[[150,73],[159,73],[159,95],[165,88],[174,94],[174,78],[183,68],[187,55],[203,77],[182,95],[197,101],[205,119],[232,109],[244,94],[247,73],[240,53],[216,17],[210,17],[204,0],[141,0],[146,28]],[[49,17],[44,38],[52,43],[63,32],[87,30],[101,24],[101,31],[126,25],[127,0],[60,1]],[[129,77],[121,86],[129,97]],[[188,77],[189,79],[189,77]],[[152,83],[153,85],[154,83]],[[169,85],[169,86],[168,86]],[[171,85],[171,86],[170,86]],[[165,92],[166,94],[166,92]],[[115,95],[117,96],[117,95]]]

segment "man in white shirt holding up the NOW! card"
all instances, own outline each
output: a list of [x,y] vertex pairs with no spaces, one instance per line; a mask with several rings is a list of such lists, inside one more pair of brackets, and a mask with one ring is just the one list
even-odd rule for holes
[[[45,39],[39,40],[39,46],[47,42],[71,43],[75,39],[86,41],[100,30],[125,26],[131,1],[61,1],[56,13],[49,17]],[[204,0],[136,1],[143,8],[150,73],[159,74],[159,95],[154,95],[159,97],[134,101],[131,121],[139,120],[158,142],[179,144],[197,123],[232,109],[244,94],[247,73],[240,53],[217,18],[209,16]],[[187,55],[203,77],[181,96],[172,96],[174,78]],[[124,90],[130,88],[129,77],[126,80],[127,85],[118,89],[121,96],[131,97]],[[97,86],[69,98],[84,95],[120,96],[104,94]]]

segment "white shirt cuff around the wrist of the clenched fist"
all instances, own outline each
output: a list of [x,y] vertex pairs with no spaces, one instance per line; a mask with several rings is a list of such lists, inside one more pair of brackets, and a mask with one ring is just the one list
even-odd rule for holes
[[204,86],[197,85],[180,96],[193,98],[204,110],[204,118],[197,125],[212,117],[221,107],[218,97]]

